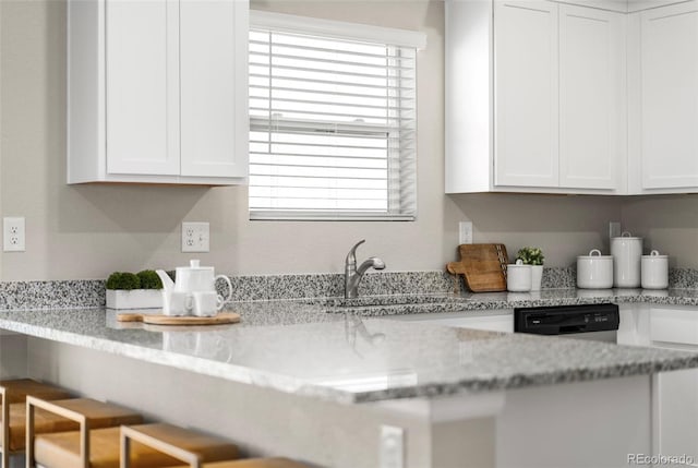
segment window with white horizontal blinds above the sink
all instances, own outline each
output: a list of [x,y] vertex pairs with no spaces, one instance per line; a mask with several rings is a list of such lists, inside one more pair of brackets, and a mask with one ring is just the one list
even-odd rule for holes
[[252,12],[251,219],[414,219],[421,33]]

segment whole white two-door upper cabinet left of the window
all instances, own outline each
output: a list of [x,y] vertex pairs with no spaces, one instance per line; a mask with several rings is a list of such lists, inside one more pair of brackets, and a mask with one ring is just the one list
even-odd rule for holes
[[244,183],[248,8],[70,0],[68,182]]

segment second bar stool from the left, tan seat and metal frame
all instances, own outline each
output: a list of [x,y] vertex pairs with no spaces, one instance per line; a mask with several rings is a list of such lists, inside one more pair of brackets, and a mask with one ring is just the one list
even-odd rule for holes
[[[39,411],[58,416],[71,422],[73,427],[68,430],[69,432],[65,432],[67,430],[60,432],[41,431],[37,424]],[[130,409],[91,398],[48,401],[27,396],[26,466],[34,468],[36,463],[46,468],[88,468],[93,448],[91,445],[93,432],[100,430],[100,428],[115,428],[118,434],[120,424],[142,422],[143,417]],[[70,451],[71,445],[67,444],[65,434],[74,435],[77,447],[75,454]],[[100,451],[99,445],[94,448],[96,453]]]

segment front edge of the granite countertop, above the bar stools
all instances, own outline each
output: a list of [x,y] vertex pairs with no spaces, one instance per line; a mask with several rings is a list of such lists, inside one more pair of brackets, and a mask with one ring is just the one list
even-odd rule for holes
[[[104,310],[93,310],[104,313]],[[418,326],[413,324],[412,326]],[[329,386],[309,384],[303,379],[297,379],[279,373],[267,372],[251,367],[234,365],[231,363],[216,362],[195,356],[186,356],[161,349],[152,349],[137,344],[120,343],[113,339],[86,336],[80,333],[64,332],[50,326],[19,323],[16,321],[0,319],[0,328],[31,335],[37,338],[49,339],[73,346],[85,347],[93,350],[109,352],[122,357],[137,359],[155,364],[177,367],[178,369],[195,372],[203,375],[224,379],[227,381],[257,385],[273,388],[284,393],[299,396],[320,398],[322,400],[339,404],[364,404],[402,398],[434,398],[447,396],[467,396],[488,392],[502,392],[532,386],[550,386],[576,382],[588,382],[613,377],[627,377],[636,375],[649,375],[655,372],[673,371],[698,368],[698,352],[651,349],[651,357],[643,357],[637,361],[627,360],[621,363],[605,365],[562,367],[549,372],[540,373],[502,373],[493,372],[490,375],[474,375],[472,377],[441,383],[417,384],[405,387],[387,388],[368,392],[345,392]],[[506,335],[502,333],[478,332],[480,334]],[[540,340],[544,347],[549,337],[527,336],[527,340],[534,343]],[[571,340],[579,341],[579,340]],[[585,341],[585,345],[587,343]],[[590,343],[590,345],[594,345]],[[650,349],[642,347],[628,347],[622,345],[602,345],[607,348],[616,348],[618,353],[624,351]],[[582,345],[583,346],[583,345]],[[611,351],[613,352],[613,351]]]

